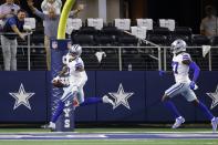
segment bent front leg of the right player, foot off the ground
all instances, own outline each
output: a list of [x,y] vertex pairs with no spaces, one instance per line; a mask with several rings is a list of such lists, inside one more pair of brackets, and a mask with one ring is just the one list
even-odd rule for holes
[[162,97],[162,102],[172,112],[175,118],[175,123],[172,126],[172,128],[177,128],[185,122],[185,118],[180,115],[175,104],[170,101],[172,97],[181,93],[183,91],[184,91],[184,84],[176,83],[173,86],[170,86],[168,90],[166,90],[164,96]]

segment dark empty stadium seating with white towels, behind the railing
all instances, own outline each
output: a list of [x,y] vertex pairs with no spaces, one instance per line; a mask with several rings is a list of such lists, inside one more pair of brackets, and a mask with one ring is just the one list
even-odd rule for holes
[[[168,19],[166,19],[168,20]],[[194,34],[191,28],[175,25],[174,30],[167,27],[155,24],[153,19],[136,19],[137,25],[131,25],[129,19],[115,19],[113,23],[103,23],[102,19],[87,19],[85,23],[81,19],[71,19],[69,21],[69,37],[73,43],[83,46],[83,60],[86,63],[87,70],[127,70],[128,64],[132,64],[133,70],[158,70],[158,49],[142,39],[143,27],[146,33],[143,35],[146,40],[162,48],[160,55],[166,58],[166,63],[162,59],[162,68],[170,69],[170,43],[176,39],[183,39],[187,42],[188,51],[194,55],[194,59],[199,63],[201,70],[208,70],[211,65],[212,70],[218,70],[217,64],[217,45],[218,37],[209,39],[200,34]],[[70,23],[73,23],[73,28]],[[176,22],[175,22],[176,24]],[[133,32],[135,29],[135,35]],[[133,35],[126,34],[124,31],[133,32]],[[139,35],[138,35],[139,34]],[[28,64],[27,42],[19,41],[18,49],[18,69],[27,70],[31,65],[31,70],[45,70],[45,52],[43,48],[43,27],[37,24],[37,30],[30,37],[30,64]],[[211,45],[211,64],[208,56],[203,58],[201,45]],[[166,49],[166,51],[164,51]],[[121,51],[120,51],[121,50]],[[98,62],[96,52],[104,52]],[[121,53],[120,53],[121,52]],[[0,54],[1,54],[0,50]],[[122,64],[120,64],[122,62]],[[2,68],[3,61],[0,59]],[[122,66],[121,66],[122,65]]]

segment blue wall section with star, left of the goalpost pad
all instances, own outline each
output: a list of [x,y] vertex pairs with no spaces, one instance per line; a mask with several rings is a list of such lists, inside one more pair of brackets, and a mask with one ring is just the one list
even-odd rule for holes
[[[0,72],[0,122],[46,121],[49,111],[46,72]],[[24,91],[20,90],[21,84]],[[31,93],[34,94],[23,102],[15,102],[18,100],[9,93],[23,99]],[[27,107],[28,103],[30,108]],[[15,104],[18,107],[14,107]]]

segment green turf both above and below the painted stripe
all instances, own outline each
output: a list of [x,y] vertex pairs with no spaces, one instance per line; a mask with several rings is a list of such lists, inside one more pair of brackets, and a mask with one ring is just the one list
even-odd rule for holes
[[[146,132],[210,132],[210,128],[76,128],[77,133],[146,133]],[[0,128],[2,133],[46,133],[42,128]],[[217,133],[218,134],[218,133]],[[218,145],[217,139],[74,139],[74,141],[0,141],[0,145]]]

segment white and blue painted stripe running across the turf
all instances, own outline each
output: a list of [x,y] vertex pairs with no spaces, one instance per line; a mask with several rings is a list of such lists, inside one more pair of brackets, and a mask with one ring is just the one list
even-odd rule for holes
[[[116,136],[114,138],[114,136]],[[131,136],[131,137],[129,137]],[[42,132],[42,133],[0,133],[0,139],[150,139],[150,138],[218,138],[218,133],[211,132],[103,132],[103,133],[74,133],[74,132]]]

